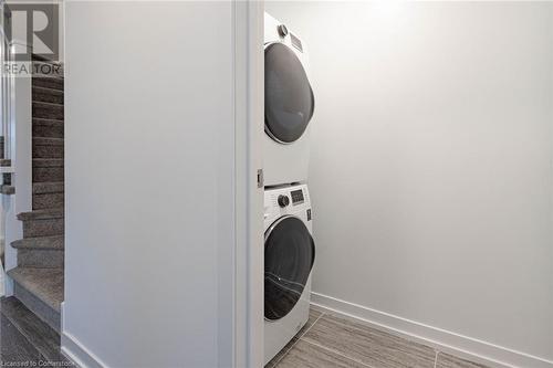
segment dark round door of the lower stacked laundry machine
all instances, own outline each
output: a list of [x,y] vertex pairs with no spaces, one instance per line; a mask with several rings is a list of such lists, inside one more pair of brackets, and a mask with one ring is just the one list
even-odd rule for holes
[[265,232],[265,318],[284,317],[300,299],[315,261],[315,244],[296,217],[276,220]]

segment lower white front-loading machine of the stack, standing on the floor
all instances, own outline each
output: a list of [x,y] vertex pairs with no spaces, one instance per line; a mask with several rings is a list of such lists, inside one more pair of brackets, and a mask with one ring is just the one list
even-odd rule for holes
[[315,261],[306,185],[268,189],[264,196],[264,364],[305,325]]

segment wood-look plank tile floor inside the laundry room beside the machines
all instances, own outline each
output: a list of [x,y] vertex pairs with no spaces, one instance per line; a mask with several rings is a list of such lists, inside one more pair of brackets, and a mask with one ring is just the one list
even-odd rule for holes
[[265,368],[487,368],[366,323],[312,307],[307,324]]

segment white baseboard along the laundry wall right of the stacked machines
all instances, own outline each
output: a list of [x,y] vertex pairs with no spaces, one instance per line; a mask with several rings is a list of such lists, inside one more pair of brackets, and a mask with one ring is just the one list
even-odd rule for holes
[[376,328],[420,341],[437,350],[453,354],[492,367],[553,368],[553,361],[517,351],[477,338],[428,326],[415,320],[375,311],[320,293],[311,293],[311,302],[323,309],[361,319]]

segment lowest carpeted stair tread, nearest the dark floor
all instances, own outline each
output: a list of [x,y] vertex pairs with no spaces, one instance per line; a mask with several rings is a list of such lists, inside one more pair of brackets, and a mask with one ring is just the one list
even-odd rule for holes
[[49,307],[60,312],[63,302],[63,269],[15,267],[8,271],[8,275]]

